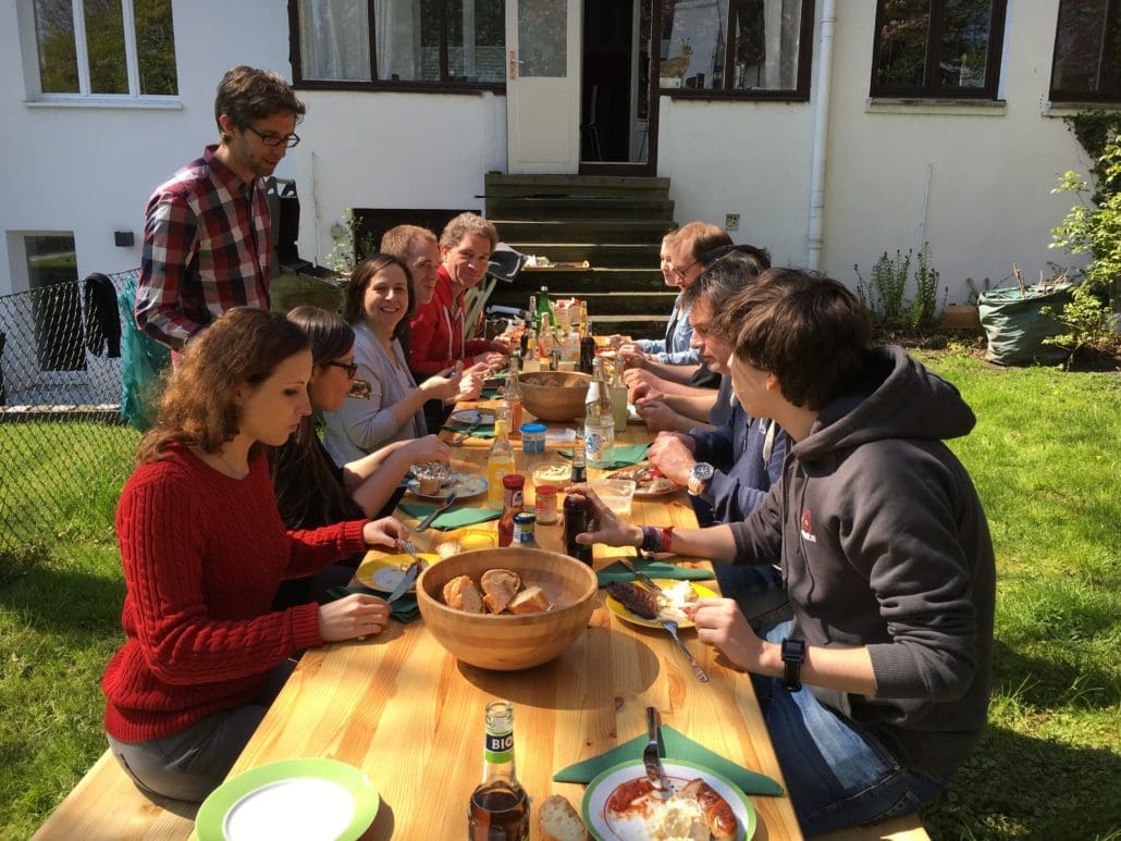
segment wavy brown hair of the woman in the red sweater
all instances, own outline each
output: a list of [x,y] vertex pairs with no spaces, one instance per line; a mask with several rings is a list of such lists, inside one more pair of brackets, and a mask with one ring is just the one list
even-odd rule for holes
[[[140,438],[137,462],[161,459],[172,443],[221,451],[241,428],[238,387],[260,386],[281,362],[309,346],[304,331],[280,313],[228,309],[187,342],[178,364],[166,375],[159,417]],[[250,460],[260,450],[253,444]]]

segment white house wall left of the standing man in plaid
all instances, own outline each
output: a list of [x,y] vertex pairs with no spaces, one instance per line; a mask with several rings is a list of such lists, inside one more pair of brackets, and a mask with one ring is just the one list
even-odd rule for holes
[[[27,288],[29,232],[73,231],[80,277],[138,267],[152,188],[217,140],[222,74],[250,64],[291,76],[285,0],[176,1],[178,107],[29,105],[17,2],[0,3],[0,295]],[[132,231],[136,244],[118,248],[114,231]]]

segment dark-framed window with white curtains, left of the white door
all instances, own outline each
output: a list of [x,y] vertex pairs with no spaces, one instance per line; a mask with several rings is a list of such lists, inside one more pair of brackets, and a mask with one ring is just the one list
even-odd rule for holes
[[504,0],[298,0],[297,85],[506,84]]

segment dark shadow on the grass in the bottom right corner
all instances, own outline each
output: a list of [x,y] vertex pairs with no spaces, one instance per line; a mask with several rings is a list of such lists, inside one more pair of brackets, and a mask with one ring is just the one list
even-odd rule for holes
[[990,728],[942,798],[932,839],[1106,838],[1121,815],[1121,756]]

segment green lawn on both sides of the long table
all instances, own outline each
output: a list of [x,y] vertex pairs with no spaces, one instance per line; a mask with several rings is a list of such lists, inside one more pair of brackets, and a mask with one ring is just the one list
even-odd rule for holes
[[[1119,841],[1121,378],[921,355],[978,414],[951,445],[985,505],[999,574],[990,728],[924,823],[934,839]],[[122,449],[99,445],[96,463],[127,471]],[[104,750],[100,676],[124,593],[109,492],[120,475],[40,475],[78,516],[54,529],[63,539],[0,554],[0,838],[30,835]]]

